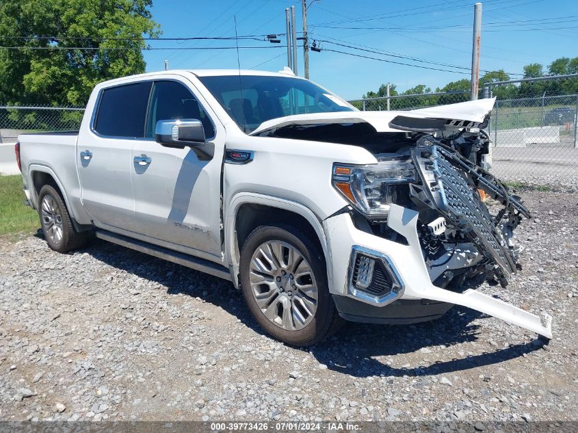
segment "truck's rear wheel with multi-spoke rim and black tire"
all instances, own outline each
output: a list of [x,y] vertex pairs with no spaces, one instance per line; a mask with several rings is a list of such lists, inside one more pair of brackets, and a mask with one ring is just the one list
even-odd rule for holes
[[44,185],[38,194],[38,216],[44,239],[57,252],[68,252],[86,245],[89,233],[75,229],[64,199],[53,185]]

